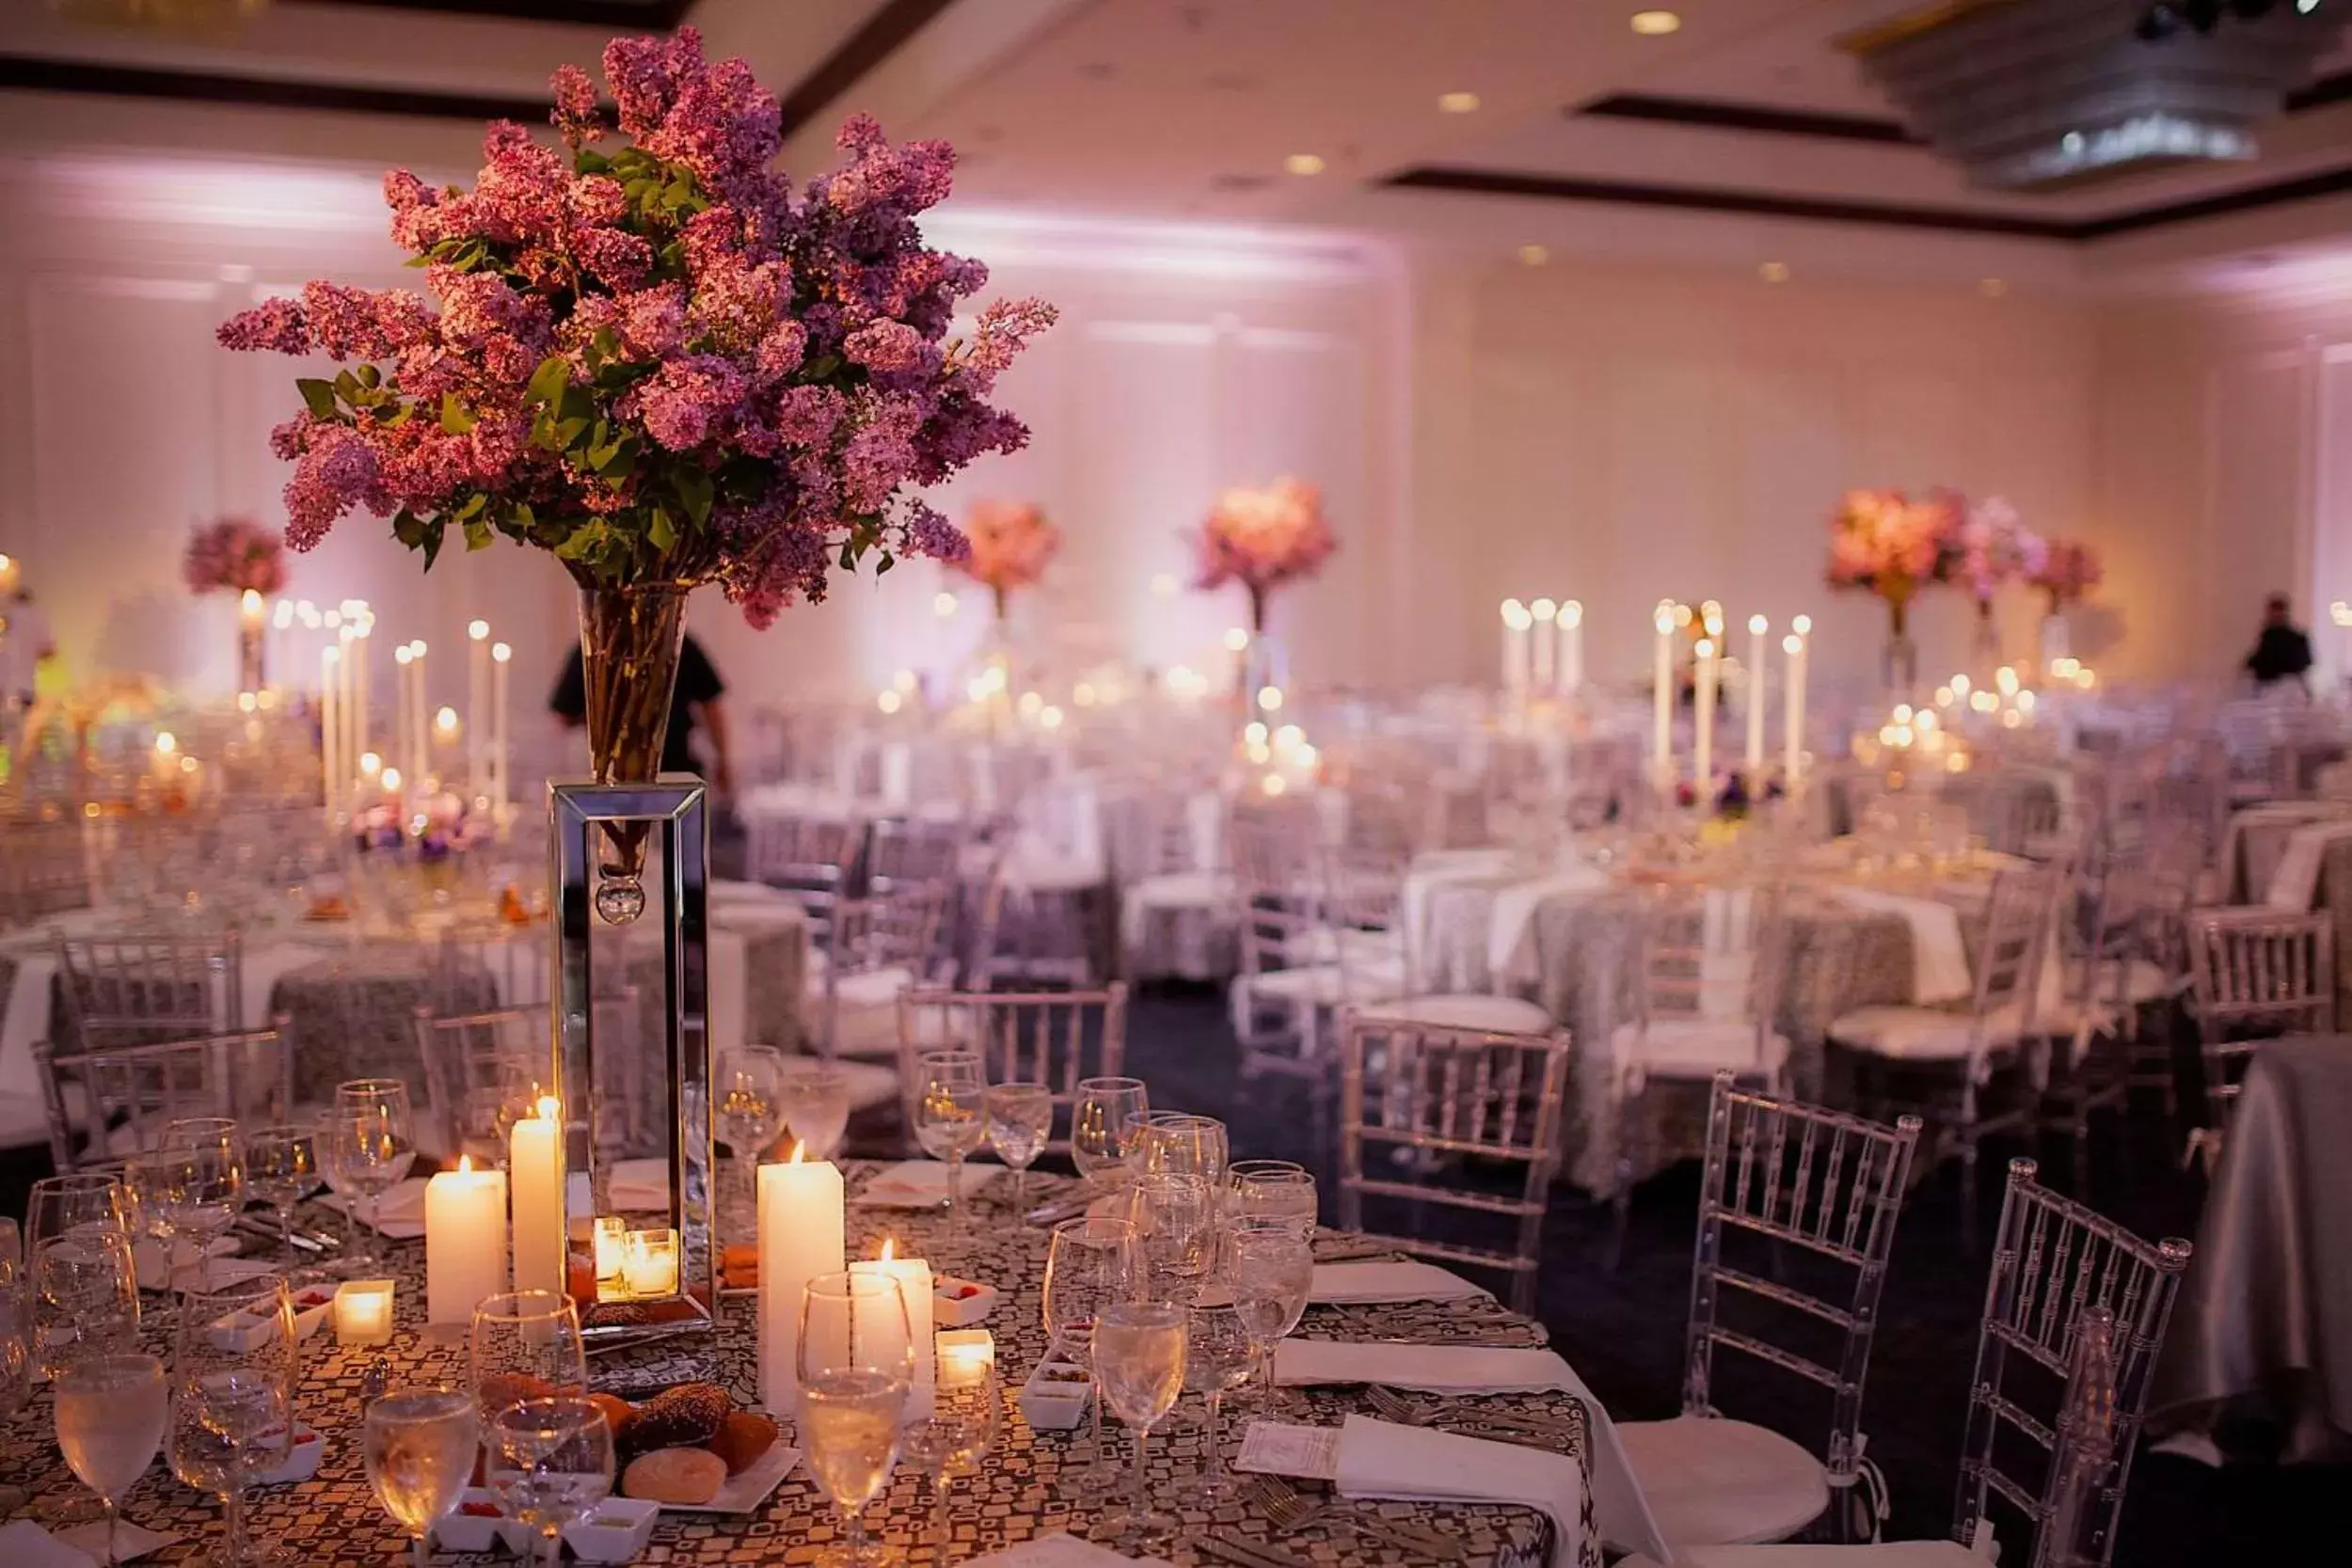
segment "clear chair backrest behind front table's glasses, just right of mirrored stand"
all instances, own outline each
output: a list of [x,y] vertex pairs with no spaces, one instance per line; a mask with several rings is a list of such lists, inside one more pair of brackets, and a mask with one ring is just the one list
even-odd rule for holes
[[1127,1072],[1127,985],[1091,992],[950,992],[898,997],[898,1084],[913,1093],[924,1051],[976,1051],[990,1084],[1044,1084],[1054,1095],[1049,1154],[1070,1150],[1077,1081]]

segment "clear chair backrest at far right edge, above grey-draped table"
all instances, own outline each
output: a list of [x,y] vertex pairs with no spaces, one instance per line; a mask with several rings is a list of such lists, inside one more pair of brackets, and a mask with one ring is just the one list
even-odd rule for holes
[[2326,1032],[2336,1016],[2336,922],[2279,910],[2199,910],[2190,919],[2190,994],[2206,1095],[2237,1098],[2249,1034]]

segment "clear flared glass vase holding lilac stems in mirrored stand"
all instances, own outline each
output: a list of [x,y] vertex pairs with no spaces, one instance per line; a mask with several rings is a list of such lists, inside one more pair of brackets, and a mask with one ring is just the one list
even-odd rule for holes
[[[588,769],[595,783],[654,783],[670,736],[677,651],[687,635],[684,583],[581,590],[581,675],[588,698]],[[644,912],[644,823],[607,823],[595,912],[626,926]]]

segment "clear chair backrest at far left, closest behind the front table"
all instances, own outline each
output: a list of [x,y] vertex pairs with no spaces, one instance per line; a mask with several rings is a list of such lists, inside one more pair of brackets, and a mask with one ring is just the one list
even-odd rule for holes
[[59,1171],[120,1164],[186,1117],[263,1126],[294,1110],[294,1056],[280,1030],[75,1053],[52,1053],[47,1041],[35,1041],[33,1060]]

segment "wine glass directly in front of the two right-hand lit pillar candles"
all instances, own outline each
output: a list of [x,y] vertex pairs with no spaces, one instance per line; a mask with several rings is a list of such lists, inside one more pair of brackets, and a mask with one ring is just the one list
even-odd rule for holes
[[863,1509],[898,1462],[906,1396],[915,1382],[906,1291],[877,1269],[818,1274],[800,1293],[800,1443],[809,1476],[842,1516],[828,1568],[866,1568]]

